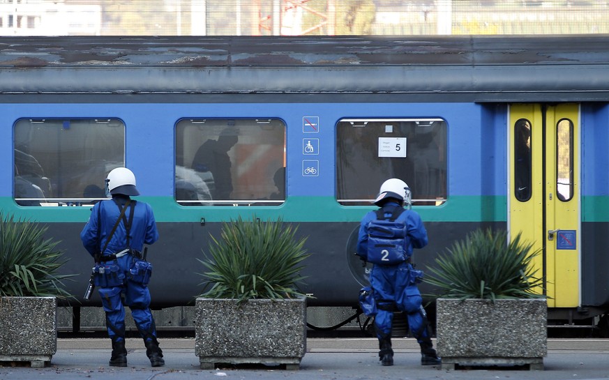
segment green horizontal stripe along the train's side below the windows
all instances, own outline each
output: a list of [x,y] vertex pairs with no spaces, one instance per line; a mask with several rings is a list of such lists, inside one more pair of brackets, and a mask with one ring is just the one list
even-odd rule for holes
[[[153,206],[157,222],[221,222],[256,215],[287,222],[357,222],[374,206],[341,206],[334,197],[289,197],[282,206],[179,206],[172,197],[136,197]],[[609,199],[603,198],[605,207]],[[426,222],[505,222],[506,197],[450,197],[441,206],[415,206]],[[38,222],[87,222],[90,207],[21,207],[0,199],[0,210]],[[607,208],[604,208],[607,210]],[[600,215],[599,215],[600,216]],[[609,213],[603,218],[607,220]]]

